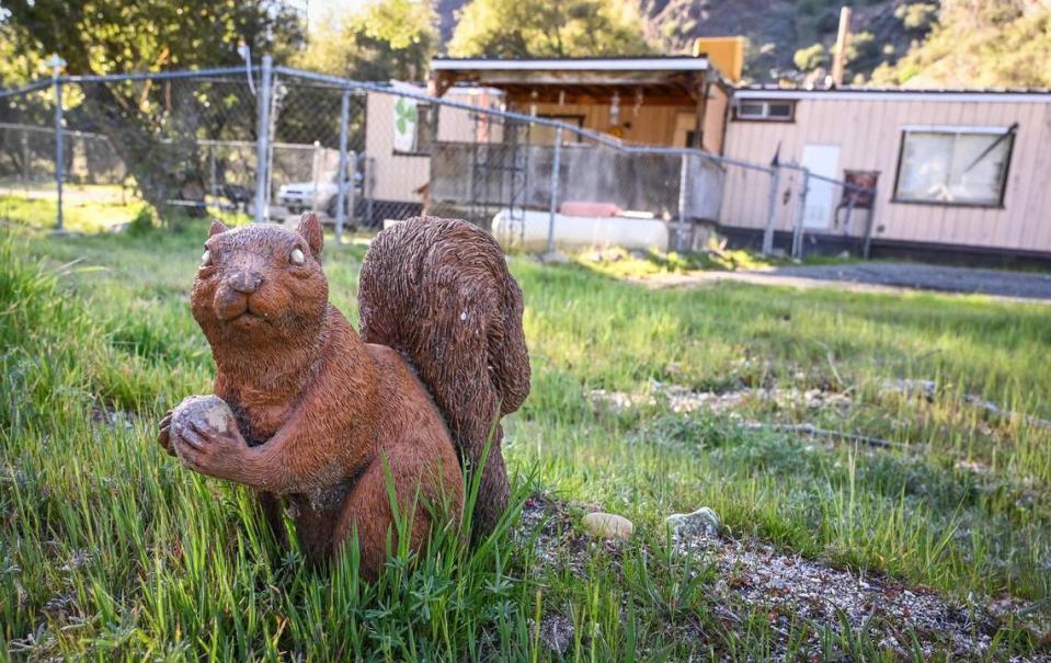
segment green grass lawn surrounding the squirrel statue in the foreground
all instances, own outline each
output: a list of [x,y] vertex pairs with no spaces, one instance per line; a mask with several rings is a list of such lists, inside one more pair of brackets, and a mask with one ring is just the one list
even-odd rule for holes
[[[515,513],[367,586],[352,556],[305,569],[245,490],[155,442],[209,392],[187,302],[205,232],[0,240],[0,659],[1049,655],[1051,307],[651,290],[514,258],[534,369],[507,422]],[[325,259],[352,320],[363,253]],[[670,536],[700,506],[719,538]],[[593,510],[633,538],[592,538]],[[813,608],[830,587],[881,594]]]

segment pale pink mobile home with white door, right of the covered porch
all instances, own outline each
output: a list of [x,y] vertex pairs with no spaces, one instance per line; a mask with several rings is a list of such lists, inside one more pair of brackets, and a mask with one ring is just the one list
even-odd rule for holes
[[[825,248],[856,244],[870,231],[876,256],[1043,262],[1051,261],[1049,146],[1047,91],[745,88],[733,95],[726,155],[776,158],[877,188],[862,210],[871,227],[845,227],[842,187],[811,180],[800,210],[800,173],[786,172],[778,232],[802,214],[807,236]],[[754,176],[727,174],[720,226],[738,243],[758,245],[767,224],[757,186]]]

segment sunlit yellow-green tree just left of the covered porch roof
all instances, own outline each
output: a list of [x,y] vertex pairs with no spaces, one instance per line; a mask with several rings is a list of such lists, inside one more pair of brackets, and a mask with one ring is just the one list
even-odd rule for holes
[[426,0],[374,1],[342,20],[331,16],[295,64],[356,80],[423,80],[438,43]]

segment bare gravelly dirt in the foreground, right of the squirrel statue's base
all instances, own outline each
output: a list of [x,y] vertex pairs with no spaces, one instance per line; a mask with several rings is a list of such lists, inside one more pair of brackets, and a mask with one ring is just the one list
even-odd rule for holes
[[[603,553],[619,557],[622,544],[598,541],[574,529],[573,511],[571,505],[549,495],[530,498],[523,510],[516,540],[535,541],[536,560],[541,567],[564,564],[578,575],[583,573],[596,546],[608,549]],[[1013,618],[1017,626],[1026,611],[1032,610],[1032,606],[1015,599],[959,604],[924,587],[878,573],[839,569],[778,551],[755,539],[676,535],[673,546],[677,555],[692,556],[718,572],[719,580],[710,594],[716,613],[724,621],[743,624],[744,617],[739,613],[768,615],[770,628],[778,636],[772,652],[774,660],[787,656],[790,627],[800,620],[813,626],[806,648],[815,660],[822,655],[819,633],[842,633],[846,625],[854,632],[865,631],[879,648],[899,656],[911,655],[915,636],[927,658],[943,654],[952,660],[979,659],[989,652],[1001,624]],[[571,641],[566,635],[571,638],[572,624],[567,626],[564,621],[566,617],[559,614],[542,620],[540,636],[552,651],[564,651],[560,645]],[[1032,619],[1024,622],[1030,628],[1037,626]],[[1033,631],[1037,638],[1044,632],[1039,628]],[[696,632],[695,637],[702,635]]]

